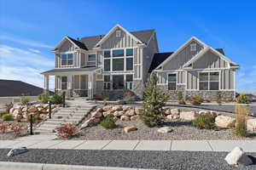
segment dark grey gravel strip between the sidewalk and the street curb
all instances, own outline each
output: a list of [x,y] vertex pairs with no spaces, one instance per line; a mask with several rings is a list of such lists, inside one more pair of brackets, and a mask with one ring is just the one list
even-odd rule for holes
[[[9,150],[0,150],[0,161],[69,164],[101,167],[134,167],[151,169],[256,169],[256,161],[247,167],[230,167],[227,152],[139,151],[139,150],[29,150],[8,157]],[[249,153],[256,156],[256,153]]]

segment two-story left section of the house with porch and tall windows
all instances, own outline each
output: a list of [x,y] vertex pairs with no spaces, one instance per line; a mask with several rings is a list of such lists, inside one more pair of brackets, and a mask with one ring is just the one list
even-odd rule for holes
[[52,52],[55,69],[42,73],[44,88],[49,89],[49,76],[55,76],[55,90],[68,96],[122,98],[127,89],[143,98],[148,69],[159,49],[154,30],[130,32],[116,25],[106,35],[64,37]]

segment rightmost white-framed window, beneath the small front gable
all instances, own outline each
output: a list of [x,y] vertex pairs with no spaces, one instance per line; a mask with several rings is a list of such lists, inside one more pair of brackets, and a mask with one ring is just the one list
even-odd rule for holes
[[199,89],[200,90],[218,90],[219,72],[200,72]]

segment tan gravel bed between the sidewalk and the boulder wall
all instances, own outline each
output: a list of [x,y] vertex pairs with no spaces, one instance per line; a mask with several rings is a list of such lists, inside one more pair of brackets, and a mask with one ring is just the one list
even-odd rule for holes
[[[177,107],[171,107],[177,108]],[[183,111],[198,111],[198,109],[183,108]],[[221,112],[222,115],[235,116],[234,114]],[[88,116],[89,117],[89,116]],[[85,118],[85,120],[88,119]],[[197,129],[191,126],[191,122],[165,122],[161,127],[173,127],[171,133],[158,133],[159,127],[147,127],[143,122],[139,121],[118,121],[117,127],[113,129],[106,129],[100,124],[93,127],[84,128],[78,136],[73,139],[173,139],[173,140],[202,140],[202,139],[256,139],[256,134],[252,134],[250,138],[238,138],[235,137],[233,129],[228,128],[215,128]],[[127,126],[135,126],[137,131],[131,133],[124,133],[123,128]]]

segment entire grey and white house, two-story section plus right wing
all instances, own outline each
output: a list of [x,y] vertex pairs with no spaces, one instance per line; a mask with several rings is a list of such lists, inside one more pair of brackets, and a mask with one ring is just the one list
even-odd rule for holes
[[75,40],[64,37],[52,50],[55,69],[45,71],[44,88],[55,76],[55,90],[68,96],[103,95],[122,98],[129,90],[143,98],[148,75],[154,71],[158,86],[190,97],[201,94],[212,99],[220,91],[223,99],[235,97],[235,71],[239,65],[224,56],[223,49],[207,46],[195,37],[176,52],[159,53],[154,30],[126,31],[114,26],[106,35]]

